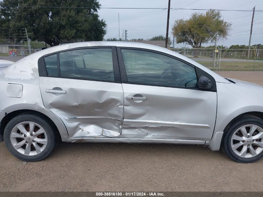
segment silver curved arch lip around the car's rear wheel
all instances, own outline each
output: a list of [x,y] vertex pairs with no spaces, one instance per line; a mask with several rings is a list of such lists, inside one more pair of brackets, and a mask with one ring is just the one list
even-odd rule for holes
[[[19,106],[19,107],[18,107]],[[53,112],[50,110],[41,107],[41,106],[36,106],[36,105],[31,105],[31,104],[26,104],[25,108],[22,106],[24,105],[15,105],[15,106],[10,106],[9,108],[5,109],[4,111],[7,112],[7,115],[3,117],[1,120],[1,125],[0,125],[0,134],[3,135],[4,129],[7,125],[7,123],[15,116],[24,113],[24,112],[31,112],[32,114],[39,114],[43,115],[45,118],[47,118],[54,126],[57,128],[59,136],[62,141],[66,141],[68,139],[68,133],[65,125],[63,124],[62,120],[55,115]],[[16,110],[13,110],[16,109]]]

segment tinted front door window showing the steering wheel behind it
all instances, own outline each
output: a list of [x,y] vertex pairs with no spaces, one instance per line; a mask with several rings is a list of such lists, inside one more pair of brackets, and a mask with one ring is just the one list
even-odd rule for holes
[[121,49],[129,82],[171,87],[196,87],[195,68],[165,55]]

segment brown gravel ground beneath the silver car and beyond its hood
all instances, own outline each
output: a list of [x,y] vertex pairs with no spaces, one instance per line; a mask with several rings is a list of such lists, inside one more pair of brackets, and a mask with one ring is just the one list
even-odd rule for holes
[[[218,73],[263,85],[263,72]],[[25,163],[0,143],[0,191],[263,191],[262,167],[198,145],[117,143],[59,143]]]

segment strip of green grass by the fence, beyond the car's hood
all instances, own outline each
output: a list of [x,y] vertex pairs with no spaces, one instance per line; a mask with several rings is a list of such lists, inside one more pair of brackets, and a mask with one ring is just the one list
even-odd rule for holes
[[[207,68],[213,69],[214,62],[197,61]],[[220,70],[222,71],[263,71],[263,62],[221,62]],[[218,67],[219,69],[219,67]],[[216,70],[216,66],[215,66]]]

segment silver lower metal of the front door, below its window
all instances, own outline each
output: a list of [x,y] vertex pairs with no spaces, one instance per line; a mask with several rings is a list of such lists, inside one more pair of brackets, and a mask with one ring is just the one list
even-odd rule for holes
[[[122,84],[122,138],[210,140],[216,119],[216,92]],[[146,100],[127,99],[127,96]]]

